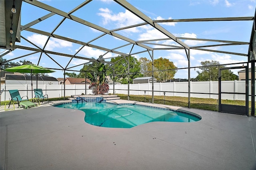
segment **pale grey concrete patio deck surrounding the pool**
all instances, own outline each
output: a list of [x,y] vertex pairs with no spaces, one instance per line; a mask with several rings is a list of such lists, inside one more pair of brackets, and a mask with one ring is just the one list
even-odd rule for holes
[[175,107],[202,120],[104,128],[53,103],[0,112],[1,170],[256,170],[255,117]]

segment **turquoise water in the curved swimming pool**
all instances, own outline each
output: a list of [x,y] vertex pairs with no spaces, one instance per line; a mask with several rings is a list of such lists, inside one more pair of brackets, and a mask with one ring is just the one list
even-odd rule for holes
[[149,122],[195,122],[200,117],[171,109],[163,110],[140,105],[113,105],[109,103],[67,103],[56,107],[84,111],[84,121],[99,127],[132,128]]

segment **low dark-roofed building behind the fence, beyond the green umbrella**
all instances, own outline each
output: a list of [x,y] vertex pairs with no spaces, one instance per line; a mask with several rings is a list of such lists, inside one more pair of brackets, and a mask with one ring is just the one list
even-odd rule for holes
[[[36,76],[32,76],[33,84],[36,84]],[[5,84],[6,85],[25,85],[31,84],[31,76],[30,75],[14,75],[14,74],[6,74],[5,75]],[[48,76],[38,76],[37,77],[38,85],[58,85],[58,80],[54,77]]]

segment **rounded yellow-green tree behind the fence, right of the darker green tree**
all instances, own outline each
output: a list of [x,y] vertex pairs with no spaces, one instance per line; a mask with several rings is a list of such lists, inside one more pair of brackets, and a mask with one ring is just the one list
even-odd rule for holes
[[[152,71],[152,61],[148,64],[148,71]],[[160,82],[165,82],[169,79],[172,79],[177,72],[176,69],[177,67],[174,65],[172,61],[166,58],[158,58],[154,59],[154,77],[160,81]],[[166,69],[172,69],[172,70],[166,70]],[[161,70],[166,70],[166,71],[161,71]]]

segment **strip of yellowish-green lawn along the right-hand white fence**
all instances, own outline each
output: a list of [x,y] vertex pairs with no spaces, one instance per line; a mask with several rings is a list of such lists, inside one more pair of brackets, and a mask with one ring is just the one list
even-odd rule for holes
[[[127,100],[128,95],[116,94],[120,99]],[[130,95],[130,100],[133,101],[145,101],[151,102],[152,96],[146,95],[146,100],[144,99],[144,95]],[[164,104],[164,96],[154,96],[154,103]],[[172,106],[182,106],[188,107],[188,97],[174,97],[174,96],[166,96],[165,104]],[[229,105],[241,105],[245,106],[245,101],[238,100],[222,100],[222,104]],[[255,103],[256,104],[256,103]],[[251,102],[249,101],[249,110],[251,111]],[[190,108],[194,109],[203,109],[209,111],[218,111],[218,100],[217,99],[202,99],[202,98],[190,98]],[[250,114],[250,112],[249,112]]]

